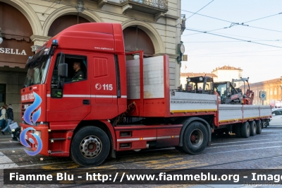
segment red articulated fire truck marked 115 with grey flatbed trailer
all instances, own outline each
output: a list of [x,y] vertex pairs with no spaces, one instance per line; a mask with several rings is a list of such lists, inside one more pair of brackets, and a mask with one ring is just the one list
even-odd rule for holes
[[[136,54],[140,59],[133,59]],[[73,79],[75,62],[79,79]],[[207,76],[197,78],[191,90],[171,90],[168,55],[125,53],[118,23],[66,28],[26,66],[20,126],[33,130],[25,141],[33,151],[41,142],[41,155],[71,156],[82,166],[145,148],[175,146],[198,154],[210,145],[212,132],[253,136],[271,118],[269,106],[221,105]]]

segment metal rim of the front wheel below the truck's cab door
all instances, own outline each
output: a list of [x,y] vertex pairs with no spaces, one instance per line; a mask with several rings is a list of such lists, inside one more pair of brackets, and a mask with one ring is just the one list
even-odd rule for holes
[[85,158],[95,158],[102,150],[102,142],[96,136],[86,136],[80,142],[80,152]]

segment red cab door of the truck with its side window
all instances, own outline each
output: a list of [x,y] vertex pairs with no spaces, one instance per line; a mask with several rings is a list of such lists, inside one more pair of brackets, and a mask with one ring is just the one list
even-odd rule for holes
[[[65,78],[63,88],[58,87],[58,65],[60,54],[56,57],[51,74],[51,87],[47,92],[47,122],[51,129],[73,129],[78,123],[90,114],[90,69],[87,56],[65,54],[65,63],[68,64],[68,78]],[[73,63],[79,62],[81,78],[73,78],[75,71]],[[49,88],[47,88],[48,90]]]

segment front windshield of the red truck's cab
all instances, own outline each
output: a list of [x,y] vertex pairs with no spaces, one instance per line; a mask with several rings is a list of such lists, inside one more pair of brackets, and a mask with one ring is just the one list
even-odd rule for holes
[[29,64],[24,87],[45,82],[50,58],[51,56],[44,55]]

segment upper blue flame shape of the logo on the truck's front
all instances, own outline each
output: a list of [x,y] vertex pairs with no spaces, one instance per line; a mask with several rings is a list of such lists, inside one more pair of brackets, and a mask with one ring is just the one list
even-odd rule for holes
[[[39,105],[41,104],[42,99],[35,92],[33,92],[33,95],[35,96],[35,102],[33,102],[32,105],[30,105],[29,107],[27,107],[27,109],[25,110],[25,114],[23,114],[23,119],[27,124],[30,125],[33,125],[32,122],[33,123],[37,122],[41,114],[41,107],[39,107]],[[32,114],[32,122],[31,122],[30,115],[35,109],[37,109],[37,107],[39,107],[39,109]]]

